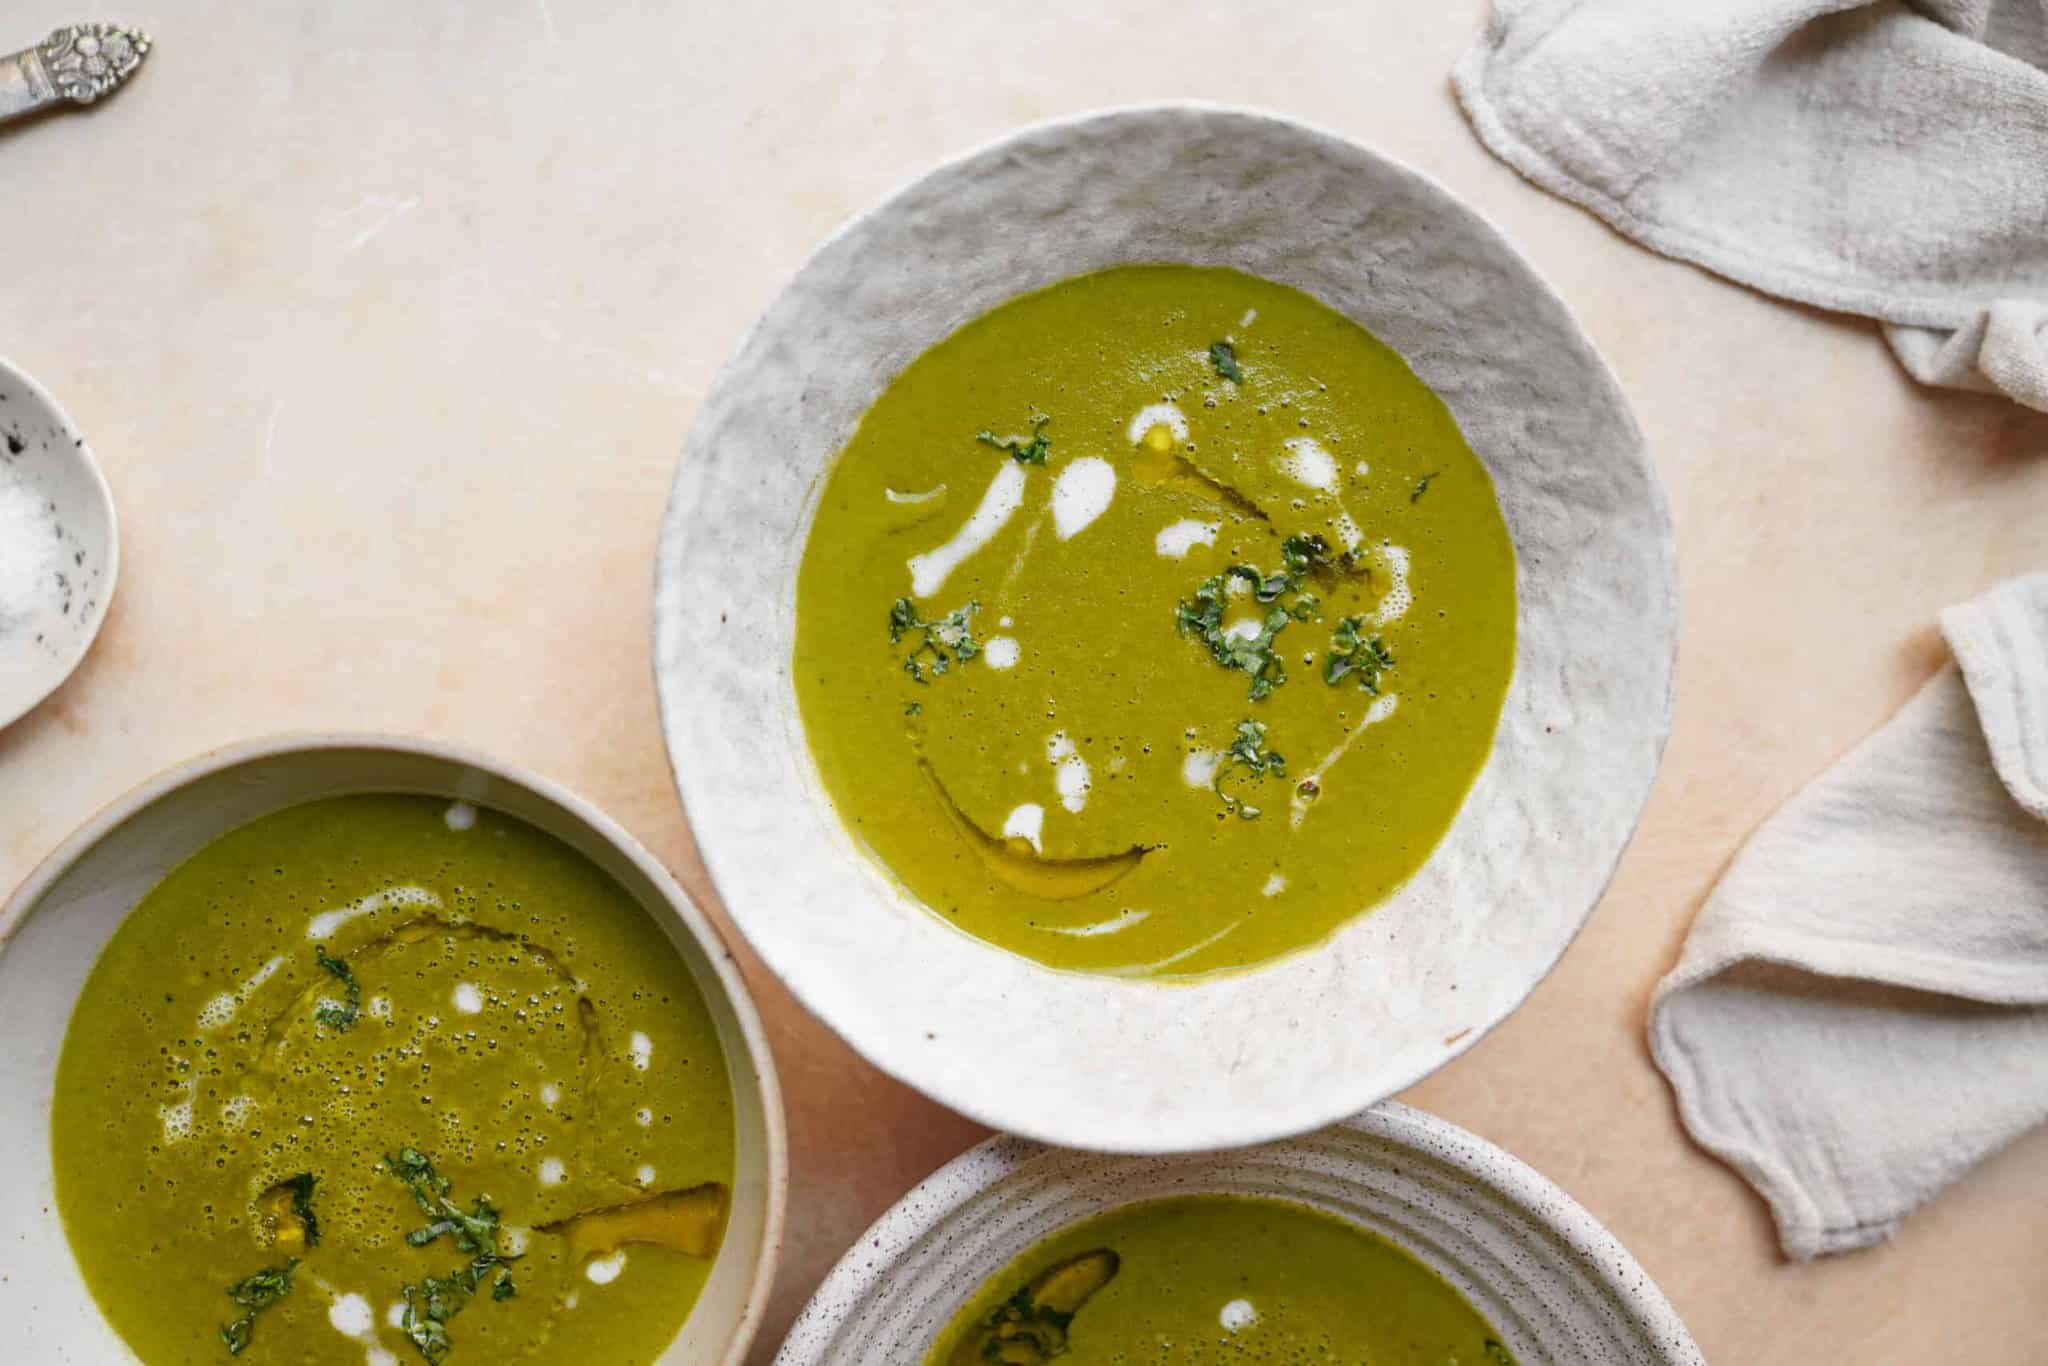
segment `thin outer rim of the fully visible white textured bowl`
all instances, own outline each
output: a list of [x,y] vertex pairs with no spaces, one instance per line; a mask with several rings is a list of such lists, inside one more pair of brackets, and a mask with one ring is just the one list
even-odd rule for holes
[[[768,326],[770,315],[776,311],[776,305],[788,295],[788,291],[797,283],[803,281],[805,272],[813,266],[813,262],[831,252],[842,240],[854,236],[870,219],[891,211],[905,195],[913,193],[920,184],[956,172],[969,166],[971,162],[997,154],[1004,147],[1024,139],[1059,135],[1085,125],[1106,123],[1114,119],[1133,119],[1133,117],[1139,119],[1233,117],[1233,119],[1247,119],[1266,125],[1276,125],[1307,139],[1372,158],[1382,166],[1386,166],[1389,170],[1393,170],[1395,174],[1421,186],[1425,193],[1440,197],[1442,201],[1448,201],[1458,211],[1468,215],[1487,236],[1495,240],[1499,250],[1522,268],[1524,283],[1528,285],[1528,289],[1538,293],[1546,303],[1554,305],[1565,319],[1569,319],[1573,332],[1583,342],[1585,360],[1589,362],[1591,371],[1602,381],[1606,381],[1606,385],[1612,389],[1614,395],[1620,397],[1620,416],[1628,424],[1628,432],[1634,438],[1638,457],[1647,473],[1649,516],[1661,528],[1661,535],[1655,545],[1655,555],[1659,561],[1657,565],[1659,580],[1661,580],[1657,586],[1657,596],[1663,604],[1661,610],[1669,618],[1669,633],[1667,633],[1669,639],[1663,649],[1663,659],[1659,659],[1659,666],[1663,670],[1663,694],[1661,698],[1657,698],[1657,715],[1653,725],[1655,733],[1651,737],[1653,743],[1651,743],[1647,776],[1640,784],[1638,797],[1632,803],[1634,809],[1624,821],[1620,840],[1616,842],[1612,854],[1606,858],[1606,864],[1597,868],[1595,891],[1585,899],[1583,909],[1579,909],[1577,915],[1573,915],[1569,928],[1563,934],[1559,934],[1554,946],[1550,946],[1550,952],[1544,956],[1540,969],[1532,971],[1528,979],[1509,993],[1509,999],[1505,999],[1497,1012],[1491,1012],[1491,1018],[1477,1020],[1470,1028],[1464,1028],[1458,1034],[1450,1036],[1430,1057],[1417,1059],[1411,1067],[1399,1073],[1389,1073],[1384,1081],[1370,1087],[1372,1092],[1376,1092],[1378,1100],[1384,1100],[1401,1094],[1403,1090],[1415,1085],[1417,1081],[1430,1077],[1438,1069],[1462,1057],[1481,1038],[1491,1034],[1501,1022],[1505,1022],[1522,1006],[1526,1006],[1530,995],[1534,995],[1536,987],[1542,981],[1546,981],[1552,971],[1556,971],[1556,965],[1563,961],[1565,952],[1579,940],[1579,936],[1585,932],[1585,926],[1599,909],[1602,901],[1606,899],[1608,891],[1614,885],[1614,877],[1620,870],[1622,858],[1628,854],[1628,848],[1634,844],[1634,838],[1642,827],[1642,819],[1655,795],[1657,776],[1663,770],[1663,758],[1671,741],[1671,723],[1677,707],[1677,670],[1679,670],[1679,649],[1681,649],[1681,631],[1679,631],[1681,586],[1677,575],[1677,545],[1675,545],[1677,530],[1671,514],[1669,489],[1665,487],[1663,481],[1663,471],[1655,463],[1649,436],[1642,432],[1642,426],[1632,405],[1628,405],[1626,389],[1622,387],[1614,367],[1599,350],[1599,346],[1593,342],[1593,338],[1585,332],[1583,322],[1579,322],[1579,313],[1559,293],[1556,285],[1552,285],[1550,279],[1536,266],[1536,262],[1530,260],[1530,256],[1520,246],[1516,246],[1516,240],[1485,209],[1475,205],[1466,195],[1454,190],[1442,178],[1425,170],[1419,170],[1417,166],[1401,158],[1380,152],[1378,147],[1368,145],[1360,137],[1339,133],[1311,119],[1300,119],[1296,115],[1280,113],[1257,104],[1204,100],[1204,98],[1165,98],[1165,100],[1137,100],[1137,102],[1090,106],[1075,113],[1001,129],[985,139],[967,145],[961,152],[946,154],[930,164],[920,164],[907,176],[903,176],[901,180],[891,184],[885,193],[874,197],[866,207],[840,221],[829,233],[817,240],[811,246],[811,250],[807,250],[803,258],[797,260],[797,264],[786,274],[782,274],[780,281],[776,281],[772,291],[766,293],[762,307],[756,311],[745,330],[737,336],[737,340],[733,342],[731,350],[725,356],[725,362],[713,375],[711,385],[707,387],[707,397],[717,393],[731,379],[735,367],[752,352],[756,338]],[[670,616],[664,614],[659,608],[664,584],[676,573],[672,561],[680,555],[680,551],[676,549],[680,545],[678,528],[686,524],[692,512],[692,508],[684,506],[682,502],[684,487],[682,487],[680,467],[694,455],[692,446],[696,440],[698,418],[702,416],[702,408],[705,405],[700,403],[698,414],[696,418],[692,418],[692,426],[686,432],[684,446],[678,457],[678,473],[670,481],[670,496],[664,506],[659,539],[655,545],[655,557],[653,557],[655,610],[651,623],[651,635],[653,635],[651,668],[655,674],[655,702],[662,719],[662,739],[664,748],[668,750],[670,774],[676,782],[676,793],[682,799],[684,823],[690,827],[692,842],[696,844],[698,858],[705,864],[705,872],[713,885],[713,891],[719,895],[721,905],[729,905],[727,887],[731,887],[735,881],[731,877],[731,862],[729,862],[733,856],[719,842],[707,844],[705,840],[700,840],[698,825],[692,819],[692,811],[705,809],[715,803],[719,791],[717,776],[709,770],[709,766],[690,762],[698,758],[690,745],[678,743],[680,729],[674,709],[680,705],[680,698],[670,696],[670,686],[664,680],[664,659],[670,657],[672,653],[670,647],[672,645],[682,647],[688,641],[676,635],[680,627],[674,621],[670,621]],[[803,743],[801,737],[797,743],[799,745]],[[848,877],[850,879],[856,877],[856,870],[848,870]],[[1346,1116],[1356,1114],[1362,1104],[1368,1108],[1370,1104],[1374,1104],[1372,1094],[1331,1096],[1331,1100],[1323,1104],[1296,1106],[1278,1124],[1212,1122],[1208,1126],[1210,1133],[1196,1133],[1186,1139],[1182,1137],[1128,1139],[1122,1135],[1079,1135],[1073,1130],[1059,1130],[1057,1124],[1038,1124],[1030,1116],[999,1114],[977,1104],[975,1098],[958,1094],[958,1087],[934,1083],[934,1079],[928,1073],[920,1073],[920,1069],[905,1065],[899,1055],[885,1049],[877,1038],[868,1038],[866,1034],[842,1028],[842,1020],[838,1018],[838,1014],[823,1014],[811,1001],[809,993],[799,989],[797,977],[784,971],[784,967],[788,965],[784,965],[780,954],[770,952],[766,946],[754,940],[754,936],[748,932],[748,917],[731,909],[727,913],[731,915],[735,930],[748,936],[750,944],[756,948],[756,956],[760,956],[760,961],[768,967],[770,973],[774,973],[774,977],[784,985],[784,989],[788,989],[807,1010],[819,1014],[819,1018],[834,1030],[834,1034],[860,1059],[864,1059],[879,1071],[895,1077],[897,1081],[909,1085],[922,1096],[928,1096],[938,1104],[958,1110],[961,1114],[1001,1133],[1014,1133],[1051,1145],[1079,1147],[1098,1153],[1128,1153],[1128,1155],[1202,1153],[1202,1151],[1212,1151],[1217,1147],[1243,1147],[1243,1145],[1294,1137],[1303,1133],[1313,1133],[1315,1128],[1333,1122],[1343,1122]],[[1370,915],[1370,909],[1364,911],[1360,920],[1364,915]],[[1321,948],[1323,946],[1311,946],[1305,950],[1296,950],[1296,954],[1290,956],[1315,954],[1321,952]],[[997,946],[991,946],[989,950],[1006,952]]]

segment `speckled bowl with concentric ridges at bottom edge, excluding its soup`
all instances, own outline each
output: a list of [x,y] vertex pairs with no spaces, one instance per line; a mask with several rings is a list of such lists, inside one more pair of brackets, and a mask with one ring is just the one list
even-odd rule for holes
[[854,1243],[776,1366],[918,1366],[952,1313],[1030,1245],[1120,1204],[1198,1192],[1313,1204],[1399,1243],[1454,1284],[1516,1360],[1704,1366],[1649,1274],[1571,1196],[1485,1139],[1397,1104],[1210,1157],[989,1139]]

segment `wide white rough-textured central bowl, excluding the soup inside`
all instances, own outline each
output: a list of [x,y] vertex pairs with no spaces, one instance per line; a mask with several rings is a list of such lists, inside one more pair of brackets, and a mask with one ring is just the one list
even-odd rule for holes
[[[1499,731],[1430,862],[1323,944],[1192,983],[1057,973],[940,924],[834,815],[791,682],[823,475],[883,385],[997,303],[1128,262],[1237,266],[1399,350],[1491,471],[1520,561]],[[877,584],[877,602],[897,592]],[[1642,434],[1530,264],[1364,147],[1178,104],[1022,131],[825,242],[705,399],[655,573],[670,758],[762,958],[881,1069],[995,1128],[1102,1151],[1321,1128],[1513,1010],[1634,829],[1675,643]]]

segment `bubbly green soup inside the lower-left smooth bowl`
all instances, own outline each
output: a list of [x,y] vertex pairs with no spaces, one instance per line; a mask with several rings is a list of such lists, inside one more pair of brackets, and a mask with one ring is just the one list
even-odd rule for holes
[[733,1102],[662,928],[494,811],[340,797],[172,870],[72,1014],[57,1206],[150,1366],[651,1362]]

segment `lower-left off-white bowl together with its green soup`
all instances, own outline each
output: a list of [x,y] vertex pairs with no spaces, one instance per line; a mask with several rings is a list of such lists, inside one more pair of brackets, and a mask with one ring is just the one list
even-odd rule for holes
[[438,745],[199,760],[10,901],[8,1360],[735,1362],[782,1206],[711,926]]

